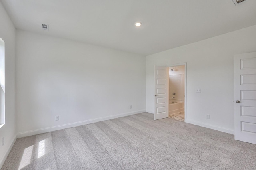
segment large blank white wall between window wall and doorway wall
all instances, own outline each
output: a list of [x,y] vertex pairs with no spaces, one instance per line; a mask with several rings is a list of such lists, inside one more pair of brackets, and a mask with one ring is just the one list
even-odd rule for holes
[[16,41],[18,137],[145,111],[144,56],[21,30]]

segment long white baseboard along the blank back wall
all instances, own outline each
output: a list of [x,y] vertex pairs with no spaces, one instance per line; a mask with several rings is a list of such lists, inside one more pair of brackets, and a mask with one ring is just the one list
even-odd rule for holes
[[100,122],[100,121],[106,121],[106,120],[115,119],[115,118],[118,118],[118,117],[124,117],[124,116],[134,115],[134,114],[138,114],[138,113],[143,113],[145,111],[146,110],[140,110],[140,111],[134,111],[134,112],[128,112],[128,113],[121,113],[121,114],[118,114],[118,115],[111,115],[111,116],[106,116],[106,117],[89,119],[89,120],[86,120],[86,121],[79,121],[79,122],[68,123],[68,124],[64,124],[64,125],[58,125],[58,126],[54,126],[54,127],[47,127],[47,128],[36,129],[36,130],[30,130],[30,131],[26,131],[26,132],[20,132],[20,133],[17,134],[17,138],[32,136],[32,135],[46,133],[46,132],[52,132],[52,131],[55,131],[55,130],[61,130],[61,129],[65,129],[65,128],[77,127],[77,126],[80,126],[80,125],[86,125],[86,124]]

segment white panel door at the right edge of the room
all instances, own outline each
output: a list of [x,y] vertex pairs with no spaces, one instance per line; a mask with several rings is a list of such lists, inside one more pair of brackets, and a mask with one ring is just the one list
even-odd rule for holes
[[256,144],[256,52],[234,56],[235,139]]

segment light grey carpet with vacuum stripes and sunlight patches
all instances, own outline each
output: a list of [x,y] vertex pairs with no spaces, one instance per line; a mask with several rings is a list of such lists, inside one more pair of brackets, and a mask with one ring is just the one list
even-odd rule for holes
[[255,170],[256,145],[150,113],[16,140],[3,170]]

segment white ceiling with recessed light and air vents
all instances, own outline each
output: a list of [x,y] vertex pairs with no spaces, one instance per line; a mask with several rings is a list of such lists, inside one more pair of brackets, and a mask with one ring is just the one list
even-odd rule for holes
[[[256,0],[1,0],[18,29],[150,55],[256,24]],[[136,27],[136,21],[142,26]],[[49,24],[49,31],[42,30]]]

